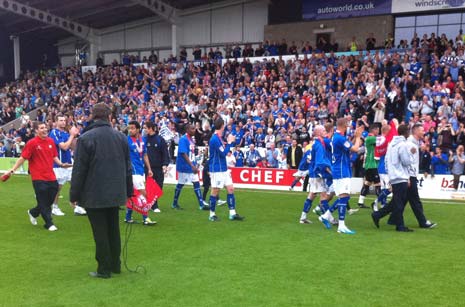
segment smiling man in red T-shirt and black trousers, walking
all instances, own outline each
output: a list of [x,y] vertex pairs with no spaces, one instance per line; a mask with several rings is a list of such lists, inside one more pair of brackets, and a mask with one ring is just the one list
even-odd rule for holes
[[53,172],[53,162],[60,167],[71,167],[71,164],[62,163],[58,159],[55,143],[48,137],[48,129],[44,123],[34,122],[33,128],[35,138],[26,143],[21,157],[7,174],[13,174],[24,161],[29,161],[29,172],[37,199],[37,206],[27,212],[29,220],[32,225],[37,225],[40,214],[45,221],[44,227],[49,231],[56,231],[58,228],[52,221],[52,203],[58,192],[58,183]]

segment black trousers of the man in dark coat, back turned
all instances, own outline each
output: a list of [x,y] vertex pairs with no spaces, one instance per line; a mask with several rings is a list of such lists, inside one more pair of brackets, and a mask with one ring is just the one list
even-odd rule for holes
[[86,208],[86,211],[94,235],[97,272],[100,274],[121,272],[118,207]]

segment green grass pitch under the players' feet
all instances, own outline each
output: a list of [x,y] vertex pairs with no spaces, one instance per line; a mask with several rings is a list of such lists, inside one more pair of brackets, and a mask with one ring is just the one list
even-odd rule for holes
[[302,192],[237,190],[238,213],[246,220],[227,220],[222,206],[220,221],[212,223],[190,186],[181,194],[184,210],[172,210],[174,189],[167,186],[162,213],[151,213],[158,225],[132,226],[128,265],[142,265],[146,274],[123,268],[121,275],[101,280],[88,276],[96,268],[94,242],[87,218],[72,215],[68,188],[60,200],[66,216],[54,218],[59,230],[50,233],[41,218],[38,226],[29,223],[30,178],[15,176],[0,185],[0,306],[464,304],[460,202],[425,202],[427,217],[439,224],[431,230],[418,228],[407,205],[413,233],[397,233],[385,220],[376,229],[370,210],[362,209],[346,219],[357,231],[350,236],[324,229],[313,214],[313,224],[299,224]]

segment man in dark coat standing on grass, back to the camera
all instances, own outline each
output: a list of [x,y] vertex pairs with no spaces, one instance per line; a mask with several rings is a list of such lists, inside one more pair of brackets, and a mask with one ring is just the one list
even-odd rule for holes
[[111,109],[93,107],[93,122],[78,140],[74,156],[70,201],[87,211],[98,266],[92,277],[121,273],[119,206],[133,194],[132,166],[127,138],[110,126]]

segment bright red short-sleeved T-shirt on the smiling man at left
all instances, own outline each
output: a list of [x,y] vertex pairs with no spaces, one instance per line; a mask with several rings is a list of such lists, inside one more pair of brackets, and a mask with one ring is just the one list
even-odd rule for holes
[[49,137],[36,136],[26,143],[21,157],[29,161],[32,180],[55,181],[53,158],[58,155],[55,143]]

